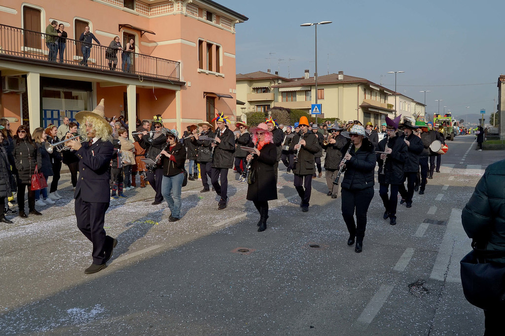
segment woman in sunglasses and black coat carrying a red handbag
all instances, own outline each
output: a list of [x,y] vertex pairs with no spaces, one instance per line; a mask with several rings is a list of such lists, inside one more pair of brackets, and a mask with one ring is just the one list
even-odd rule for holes
[[25,189],[28,189],[28,210],[30,214],[42,215],[35,210],[35,191],[31,189],[31,177],[35,173],[35,165],[42,167],[42,157],[37,153],[35,143],[31,139],[28,127],[21,125],[14,136],[12,155],[18,170],[18,205],[19,217],[27,218],[25,213]]

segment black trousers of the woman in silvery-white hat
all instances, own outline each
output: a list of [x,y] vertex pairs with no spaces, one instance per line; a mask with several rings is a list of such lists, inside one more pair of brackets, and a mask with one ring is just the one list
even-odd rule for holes
[[[374,197],[374,188],[349,190],[342,188],[342,217],[349,236],[356,237],[356,241],[363,242],[367,228],[367,212]],[[356,222],[354,214],[356,213]]]

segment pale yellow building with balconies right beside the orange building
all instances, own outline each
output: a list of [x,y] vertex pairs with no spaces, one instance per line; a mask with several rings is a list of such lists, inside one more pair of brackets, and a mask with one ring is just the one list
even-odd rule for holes
[[266,112],[273,107],[276,99],[272,87],[276,84],[291,82],[292,80],[280,77],[277,72],[271,74],[257,71],[236,76],[237,87],[237,117],[245,112]]

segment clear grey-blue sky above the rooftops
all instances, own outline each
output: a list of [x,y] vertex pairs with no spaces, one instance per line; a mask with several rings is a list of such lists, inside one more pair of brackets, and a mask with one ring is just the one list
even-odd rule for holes
[[[246,17],[237,24],[236,72],[288,77],[315,72],[315,28],[319,25],[318,74],[366,78],[424,103],[426,112],[450,110],[477,122],[480,110],[496,109],[497,81],[505,73],[505,1],[301,1],[217,0]],[[281,59],[281,60],[279,60]],[[479,85],[475,85],[479,84]],[[468,106],[468,108],[467,108]]]

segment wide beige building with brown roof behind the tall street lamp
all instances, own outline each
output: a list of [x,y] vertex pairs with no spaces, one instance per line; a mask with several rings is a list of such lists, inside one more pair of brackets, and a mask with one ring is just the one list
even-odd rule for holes
[[394,110],[388,103],[388,96],[393,94],[378,84],[365,78],[338,74],[318,77],[316,93],[315,79],[305,71],[304,78],[274,86],[274,106],[301,109],[310,112],[311,104],[322,106],[323,118],[340,120],[371,121],[374,125],[384,122],[386,115],[394,116]]

